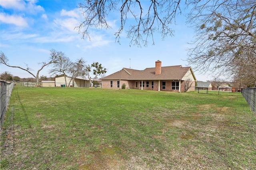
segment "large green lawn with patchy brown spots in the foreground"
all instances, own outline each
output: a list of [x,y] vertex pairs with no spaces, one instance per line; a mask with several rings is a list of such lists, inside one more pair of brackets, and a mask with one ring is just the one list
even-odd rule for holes
[[1,169],[256,169],[240,93],[14,87]]

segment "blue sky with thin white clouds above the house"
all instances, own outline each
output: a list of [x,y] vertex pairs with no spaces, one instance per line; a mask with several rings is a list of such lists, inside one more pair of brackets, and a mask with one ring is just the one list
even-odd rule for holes
[[[116,43],[114,33],[120,24],[120,12],[107,16],[112,29],[90,29],[90,40],[74,29],[83,21],[82,10],[75,0],[1,0],[0,1],[0,50],[8,57],[8,64],[32,69],[36,75],[40,63],[50,57],[50,50],[62,51],[72,61],[83,58],[86,64],[101,63],[107,69],[106,76],[121,70],[132,68],[144,70],[155,66],[157,60],[162,66],[191,66],[186,59],[186,49],[191,47],[194,31],[186,25],[186,18],[178,15],[176,24],[172,24],[174,36],[164,40],[156,33],[154,44],[147,47],[130,45],[126,32],[121,34],[120,44]],[[129,23],[129,16],[128,22]],[[125,30],[127,30],[126,27]],[[44,67],[39,76],[49,74],[51,66]],[[20,68],[0,65],[0,72],[10,72],[20,78],[32,75]],[[208,74],[199,74],[194,70],[198,81],[211,80]]]

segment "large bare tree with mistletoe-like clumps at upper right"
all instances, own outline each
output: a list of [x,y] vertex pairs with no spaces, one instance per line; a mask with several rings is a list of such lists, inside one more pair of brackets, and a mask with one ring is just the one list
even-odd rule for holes
[[[194,47],[188,53],[188,62],[195,66],[194,70],[210,71],[216,76],[229,73],[230,76],[238,64],[246,67],[249,61],[255,61],[255,0],[207,3],[192,0],[188,5],[193,6],[188,21],[196,31]],[[255,64],[252,67],[255,68]]]

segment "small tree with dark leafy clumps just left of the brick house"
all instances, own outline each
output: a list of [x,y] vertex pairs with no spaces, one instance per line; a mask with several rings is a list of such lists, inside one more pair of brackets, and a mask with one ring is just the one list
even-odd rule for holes
[[[106,68],[102,67],[98,62],[87,65],[85,68],[85,75],[90,80],[90,84],[92,84],[95,79],[98,79],[98,76],[106,72]],[[94,76],[92,77],[92,75]]]

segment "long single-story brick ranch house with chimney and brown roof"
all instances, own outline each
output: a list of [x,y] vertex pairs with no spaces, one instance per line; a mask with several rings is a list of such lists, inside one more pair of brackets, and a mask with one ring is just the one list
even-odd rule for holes
[[191,67],[161,66],[161,61],[156,61],[156,66],[144,70],[122,68],[122,70],[102,78],[102,88],[126,88],[141,90],[176,91],[184,92],[186,80],[191,80],[190,90],[194,90],[196,77]]

